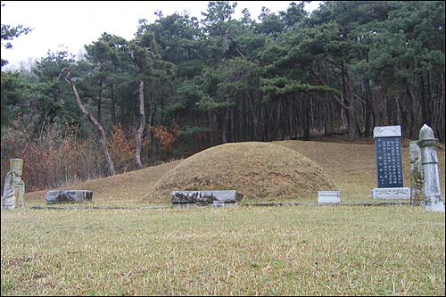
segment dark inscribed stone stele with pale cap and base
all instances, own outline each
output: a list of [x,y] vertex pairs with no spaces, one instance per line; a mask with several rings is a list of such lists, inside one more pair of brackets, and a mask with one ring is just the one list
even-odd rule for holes
[[410,188],[403,186],[401,161],[401,127],[383,126],[373,129],[376,144],[378,187],[374,199],[410,199]]

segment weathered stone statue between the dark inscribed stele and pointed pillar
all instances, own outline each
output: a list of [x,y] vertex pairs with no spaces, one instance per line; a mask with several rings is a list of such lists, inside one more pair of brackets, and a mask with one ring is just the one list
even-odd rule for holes
[[417,141],[411,141],[410,151],[410,204],[422,205],[425,202],[423,194],[423,167],[421,166],[421,149]]

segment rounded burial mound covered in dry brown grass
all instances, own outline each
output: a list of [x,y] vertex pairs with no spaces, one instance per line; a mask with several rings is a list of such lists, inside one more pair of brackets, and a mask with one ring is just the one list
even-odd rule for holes
[[309,158],[282,145],[222,144],[196,153],[170,169],[145,200],[169,201],[174,190],[236,190],[245,199],[317,199],[334,182]]

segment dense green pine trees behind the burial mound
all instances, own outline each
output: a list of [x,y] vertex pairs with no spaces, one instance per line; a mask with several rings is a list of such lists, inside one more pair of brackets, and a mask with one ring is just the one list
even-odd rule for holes
[[[18,119],[33,139],[66,125],[97,139],[57,79],[64,67],[107,135],[120,127],[136,142],[133,168],[227,142],[354,141],[384,125],[415,138],[427,123],[444,142],[443,1],[327,1],[312,13],[299,2],[256,20],[236,20],[236,5],[211,1],[202,21],[155,12],[134,39],[104,33],[78,61],[49,53],[2,71],[2,144]],[[2,25],[2,42],[21,33]]]

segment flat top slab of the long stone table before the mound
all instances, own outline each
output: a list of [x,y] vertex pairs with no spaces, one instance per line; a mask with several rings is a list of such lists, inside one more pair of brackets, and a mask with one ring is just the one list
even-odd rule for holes
[[235,190],[222,191],[173,191],[172,203],[235,203],[241,202],[244,195]]

